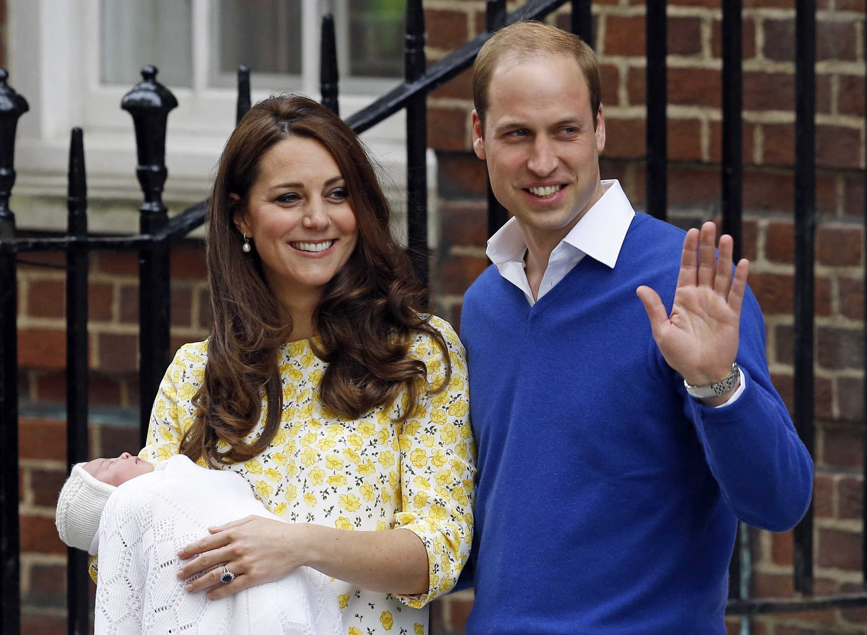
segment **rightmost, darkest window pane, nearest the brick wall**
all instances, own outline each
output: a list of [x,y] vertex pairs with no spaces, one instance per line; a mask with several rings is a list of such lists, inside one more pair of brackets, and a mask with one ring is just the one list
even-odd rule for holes
[[348,4],[349,75],[402,77],[406,0],[350,0]]

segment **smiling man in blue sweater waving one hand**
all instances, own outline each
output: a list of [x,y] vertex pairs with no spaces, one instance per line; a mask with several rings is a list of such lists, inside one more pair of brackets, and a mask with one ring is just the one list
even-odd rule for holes
[[748,263],[732,275],[713,223],[684,236],[600,180],[599,71],[576,36],[502,29],[473,94],[473,147],[514,218],[461,318],[467,632],[721,635],[737,518],[784,531],[812,490]]

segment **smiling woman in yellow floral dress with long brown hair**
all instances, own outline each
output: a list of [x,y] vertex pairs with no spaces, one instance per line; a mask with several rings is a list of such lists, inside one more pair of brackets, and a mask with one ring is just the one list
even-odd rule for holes
[[472,541],[466,363],[419,312],[361,142],[272,97],[231,135],[210,202],[212,335],[175,356],[140,457],[237,471],[290,523],[214,527],[179,577],[217,566],[186,588],[221,598],[310,566],[351,635],[427,632]]

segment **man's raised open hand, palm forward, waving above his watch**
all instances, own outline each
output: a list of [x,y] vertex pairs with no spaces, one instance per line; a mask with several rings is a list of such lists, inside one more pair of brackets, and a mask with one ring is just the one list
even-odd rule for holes
[[636,290],[662,357],[696,386],[720,382],[732,369],[749,271],[749,262],[742,259],[732,277],[733,239],[728,235],[720,238],[717,259],[715,236],[716,226],[711,222],[701,226],[701,232],[687,232],[670,317],[656,291],[649,286]]

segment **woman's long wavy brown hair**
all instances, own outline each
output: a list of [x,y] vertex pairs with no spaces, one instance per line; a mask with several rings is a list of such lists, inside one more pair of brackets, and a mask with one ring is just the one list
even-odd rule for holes
[[[264,451],[280,425],[283,384],[277,352],[292,324],[281,317],[265,284],[256,250],[244,253],[234,219],[247,204],[264,154],[292,135],[314,139],[334,157],[355,212],[358,240],[332,278],[313,314],[319,342],[310,344],[327,363],[318,398],[343,419],[389,407],[401,391],[408,400],[396,421],[412,416],[427,392],[427,367],[407,356],[413,332],[439,346],[451,377],[445,339],[421,313],[424,290],[388,226],[389,207],[374,167],[357,135],[328,108],[298,95],[260,101],[231,134],[209,200],[207,269],[213,327],[205,377],[193,399],[198,412],[180,451],[214,467],[244,462]],[[238,201],[230,194],[237,194]],[[263,406],[263,395],[267,402]],[[262,435],[245,441],[265,408]],[[225,442],[227,448],[218,442]]]

